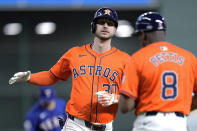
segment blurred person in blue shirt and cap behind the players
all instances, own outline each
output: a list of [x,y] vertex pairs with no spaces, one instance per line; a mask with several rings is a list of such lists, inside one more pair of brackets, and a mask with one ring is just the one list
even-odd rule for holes
[[28,111],[24,131],[61,131],[60,124],[67,118],[65,109],[66,102],[56,97],[53,86],[40,87],[40,100]]

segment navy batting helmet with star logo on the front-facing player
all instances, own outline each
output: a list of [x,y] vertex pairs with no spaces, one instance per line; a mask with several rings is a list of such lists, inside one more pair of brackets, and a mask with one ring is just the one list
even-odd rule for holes
[[94,15],[94,19],[91,22],[91,31],[92,33],[95,33],[96,31],[96,21],[99,18],[108,18],[112,21],[114,21],[116,28],[118,27],[118,15],[115,10],[110,9],[108,7],[100,8],[96,11]]

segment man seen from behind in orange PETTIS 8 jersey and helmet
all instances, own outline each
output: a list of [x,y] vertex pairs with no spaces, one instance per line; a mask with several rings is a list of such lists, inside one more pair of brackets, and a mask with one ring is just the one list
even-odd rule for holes
[[147,12],[137,19],[135,33],[144,47],[130,57],[120,89],[121,111],[136,108],[133,131],[187,131],[192,92],[196,108],[196,58],[165,42],[165,31],[159,13]]

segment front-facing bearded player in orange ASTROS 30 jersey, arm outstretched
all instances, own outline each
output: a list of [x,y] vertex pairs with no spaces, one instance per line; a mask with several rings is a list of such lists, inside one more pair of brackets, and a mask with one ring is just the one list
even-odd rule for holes
[[[66,81],[72,74],[73,87],[66,107],[68,119],[63,130],[112,131],[118,110],[116,94],[129,58],[127,53],[111,46],[117,26],[118,16],[114,10],[98,9],[91,23],[93,44],[73,47],[49,71],[18,72],[9,83],[27,81],[46,86]],[[98,98],[99,94],[106,95],[104,100]]]

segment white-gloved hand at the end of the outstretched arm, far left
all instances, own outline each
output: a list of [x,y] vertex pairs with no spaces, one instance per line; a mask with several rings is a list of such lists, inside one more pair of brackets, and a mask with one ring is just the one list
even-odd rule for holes
[[9,80],[9,84],[14,84],[15,82],[26,82],[30,79],[31,71],[17,72]]

